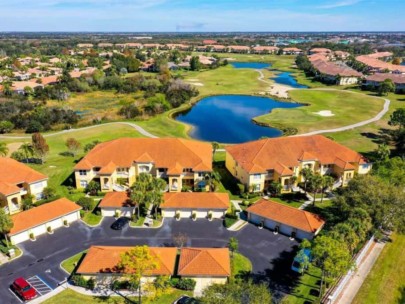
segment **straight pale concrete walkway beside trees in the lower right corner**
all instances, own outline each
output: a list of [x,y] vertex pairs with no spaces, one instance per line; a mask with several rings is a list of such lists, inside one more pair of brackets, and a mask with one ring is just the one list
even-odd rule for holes
[[336,301],[337,304],[350,304],[353,302],[356,294],[359,292],[361,285],[373,268],[377,258],[380,256],[381,251],[385,246],[384,242],[375,243],[370,249],[368,255],[363,259],[357,268],[356,273],[346,285],[346,288],[341,293],[340,298]]

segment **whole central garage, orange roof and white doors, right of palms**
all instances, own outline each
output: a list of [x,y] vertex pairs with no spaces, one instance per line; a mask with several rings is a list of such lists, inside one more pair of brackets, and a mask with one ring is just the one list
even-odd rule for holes
[[196,218],[211,214],[212,219],[223,218],[229,207],[228,193],[216,192],[165,193],[160,206],[163,217],[174,218],[178,213],[181,218],[191,218],[195,213]]

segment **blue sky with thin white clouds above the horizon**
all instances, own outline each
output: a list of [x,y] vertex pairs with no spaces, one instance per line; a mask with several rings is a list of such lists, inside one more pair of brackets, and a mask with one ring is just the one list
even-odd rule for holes
[[405,31],[405,0],[0,0],[0,31]]

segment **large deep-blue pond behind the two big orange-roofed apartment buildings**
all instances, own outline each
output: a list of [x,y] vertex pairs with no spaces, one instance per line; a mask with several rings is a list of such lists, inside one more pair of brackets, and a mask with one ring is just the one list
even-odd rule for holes
[[277,108],[297,108],[302,105],[279,102],[267,97],[246,95],[219,95],[203,98],[190,110],[179,114],[176,120],[194,126],[190,135],[204,141],[241,143],[263,136],[278,137],[275,128],[254,124],[252,118]]

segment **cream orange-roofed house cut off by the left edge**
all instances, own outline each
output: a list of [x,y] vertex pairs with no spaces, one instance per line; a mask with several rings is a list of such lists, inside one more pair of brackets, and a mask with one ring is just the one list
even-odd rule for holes
[[42,198],[48,186],[48,177],[14,159],[0,157],[0,207],[6,213],[21,211],[21,201],[32,195],[34,201]]

